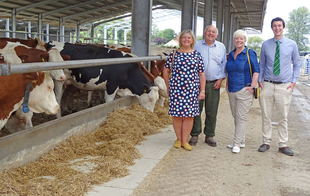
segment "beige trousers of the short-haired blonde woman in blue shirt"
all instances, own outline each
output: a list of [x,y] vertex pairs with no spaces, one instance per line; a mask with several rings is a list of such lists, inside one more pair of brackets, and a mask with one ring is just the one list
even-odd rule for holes
[[226,89],[229,98],[230,110],[232,111],[232,117],[235,119],[235,136],[233,139],[234,146],[245,144],[246,118],[248,117],[248,113],[254,99],[253,94],[246,90],[246,88],[247,87],[244,87],[235,93],[230,93]]

